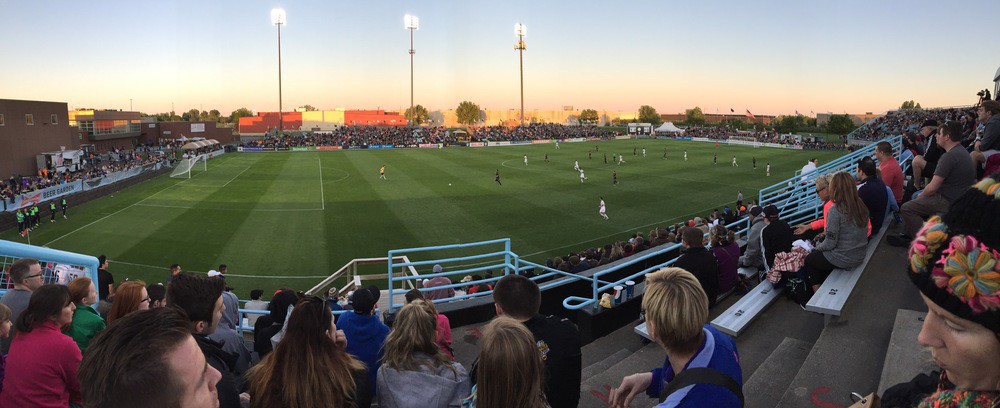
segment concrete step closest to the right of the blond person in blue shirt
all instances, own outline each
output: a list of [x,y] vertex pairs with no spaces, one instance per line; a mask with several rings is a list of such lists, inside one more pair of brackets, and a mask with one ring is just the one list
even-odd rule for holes
[[772,408],[809,356],[812,343],[785,337],[750,378],[743,381],[747,408]]

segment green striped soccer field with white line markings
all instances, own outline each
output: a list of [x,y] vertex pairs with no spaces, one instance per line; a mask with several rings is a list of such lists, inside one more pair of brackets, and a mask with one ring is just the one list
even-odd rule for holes
[[[599,152],[588,158],[595,145]],[[705,216],[732,204],[737,190],[753,198],[809,157],[841,154],[663,140],[560,147],[226,154],[190,179],[165,175],[73,207],[69,220],[43,220],[31,243],[106,254],[118,282],[162,282],[175,262],[201,272],[226,263],[230,274],[245,276],[229,279],[244,298],[253,288],[308,289],[351,259],[390,249],[510,238],[515,253],[541,262]],[[626,162],[606,165],[605,153],[609,161],[625,153]],[[730,166],[733,155],[740,167]],[[589,180],[580,182],[573,160]],[[379,180],[383,164],[388,180]],[[502,186],[494,182],[497,169]],[[607,221],[597,213],[601,196]],[[0,238],[25,242],[14,231]],[[371,271],[384,273],[384,266]]]

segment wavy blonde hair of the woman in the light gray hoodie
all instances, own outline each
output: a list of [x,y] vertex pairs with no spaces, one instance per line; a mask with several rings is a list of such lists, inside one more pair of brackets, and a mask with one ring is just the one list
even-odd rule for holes
[[[441,351],[437,342],[437,312],[430,302],[414,299],[403,306],[385,339],[382,364],[397,371],[419,371],[421,365],[429,368],[446,366],[455,375],[458,369],[451,358]],[[414,353],[422,352],[430,359],[416,359]]]

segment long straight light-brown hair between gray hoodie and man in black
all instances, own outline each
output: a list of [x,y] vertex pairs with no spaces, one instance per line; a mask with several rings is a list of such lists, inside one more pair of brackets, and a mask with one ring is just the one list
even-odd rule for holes
[[483,330],[476,406],[479,408],[548,407],[542,378],[545,366],[535,338],[521,322],[493,319]]

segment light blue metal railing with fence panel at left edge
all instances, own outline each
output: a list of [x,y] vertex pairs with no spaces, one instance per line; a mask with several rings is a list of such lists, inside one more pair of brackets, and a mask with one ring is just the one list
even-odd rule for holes
[[73,279],[88,277],[97,286],[97,258],[58,249],[42,248],[19,242],[0,240],[0,295],[13,289],[10,266],[21,258],[37,259],[42,266],[42,279],[46,284],[65,285]]

